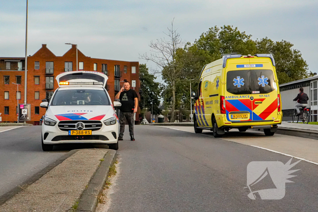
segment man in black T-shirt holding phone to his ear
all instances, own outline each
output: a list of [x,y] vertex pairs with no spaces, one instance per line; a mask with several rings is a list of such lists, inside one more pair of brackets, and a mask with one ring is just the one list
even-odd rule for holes
[[124,87],[115,96],[115,99],[120,99],[121,107],[119,108],[119,136],[118,140],[123,140],[122,137],[125,131],[126,120],[129,125],[130,140],[135,140],[134,138],[134,113],[137,113],[138,106],[138,96],[135,90],[130,89],[130,84],[126,80],[124,82]]

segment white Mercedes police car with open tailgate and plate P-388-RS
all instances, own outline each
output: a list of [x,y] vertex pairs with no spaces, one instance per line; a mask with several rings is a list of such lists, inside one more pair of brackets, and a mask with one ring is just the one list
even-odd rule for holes
[[119,121],[115,107],[104,88],[108,77],[100,72],[64,72],[56,77],[59,88],[47,108],[42,123],[42,149],[54,144],[98,143],[118,149]]

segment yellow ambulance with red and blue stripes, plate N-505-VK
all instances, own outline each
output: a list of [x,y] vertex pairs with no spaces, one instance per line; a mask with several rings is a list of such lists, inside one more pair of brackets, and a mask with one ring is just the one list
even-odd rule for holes
[[273,135],[281,124],[279,84],[272,54],[224,54],[203,67],[194,106],[194,130],[221,137],[238,128]]

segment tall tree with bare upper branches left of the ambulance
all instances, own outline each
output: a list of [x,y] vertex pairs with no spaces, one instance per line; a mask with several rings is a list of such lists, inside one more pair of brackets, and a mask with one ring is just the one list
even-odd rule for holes
[[151,41],[149,47],[150,56],[147,53],[140,55],[140,59],[152,61],[156,63],[159,70],[153,71],[155,74],[161,74],[162,77],[171,83],[172,92],[172,109],[170,122],[175,120],[175,105],[176,105],[176,80],[180,79],[184,73],[184,67],[187,61],[187,56],[183,47],[185,42],[180,38],[180,34],[173,28],[168,27],[168,33],[163,32],[168,38],[156,39]]

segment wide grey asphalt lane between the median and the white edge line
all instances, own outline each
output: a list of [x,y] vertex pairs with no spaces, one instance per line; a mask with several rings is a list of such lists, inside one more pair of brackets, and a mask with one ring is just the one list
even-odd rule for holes
[[[247,165],[251,161],[285,164],[290,157],[163,127],[135,126],[135,141],[128,140],[128,134],[119,145],[121,171],[108,211],[317,211],[315,164],[301,161],[291,168],[301,170],[289,179],[294,183],[286,183],[284,198],[251,200]],[[268,137],[277,142],[279,138]],[[261,189],[272,188],[265,179]]]

